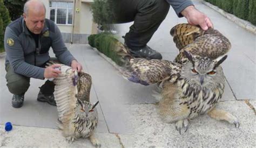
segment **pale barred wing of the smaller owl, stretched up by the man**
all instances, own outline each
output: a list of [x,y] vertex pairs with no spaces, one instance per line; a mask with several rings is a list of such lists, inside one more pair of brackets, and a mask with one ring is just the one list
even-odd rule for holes
[[77,85],[74,83],[75,72],[70,66],[61,65],[61,73],[53,79],[55,83],[55,101],[57,105],[59,120],[65,125],[69,123],[75,114],[77,102]]

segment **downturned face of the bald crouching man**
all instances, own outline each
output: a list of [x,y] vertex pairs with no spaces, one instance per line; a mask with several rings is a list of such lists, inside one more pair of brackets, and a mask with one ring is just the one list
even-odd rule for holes
[[44,10],[29,10],[26,15],[23,13],[24,20],[28,29],[35,34],[40,34],[44,28],[45,11]]

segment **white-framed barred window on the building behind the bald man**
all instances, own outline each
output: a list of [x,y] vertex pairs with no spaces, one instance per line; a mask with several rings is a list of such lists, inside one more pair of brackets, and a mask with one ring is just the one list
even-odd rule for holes
[[[71,3],[71,2],[64,2],[64,3]],[[73,2],[72,2],[73,4]],[[50,4],[49,4],[49,19],[51,20],[51,10],[55,10],[55,17],[54,17],[54,23],[56,25],[63,25],[63,26],[72,26],[73,25],[73,18],[74,18],[74,14],[73,14],[73,7],[72,8],[69,8],[68,6],[66,6],[65,8],[64,7],[51,7]],[[57,9],[65,9],[66,10],[66,22],[65,24],[57,24]],[[71,10],[72,12],[72,23],[71,24],[68,24],[69,22],[69,10]],[[53,20],[52,20],[53,21]]]

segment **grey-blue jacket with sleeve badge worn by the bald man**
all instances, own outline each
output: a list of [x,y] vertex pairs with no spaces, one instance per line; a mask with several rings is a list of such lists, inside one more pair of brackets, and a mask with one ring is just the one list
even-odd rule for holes
[[36,48],[35,40],[29,33],[23,17],[16,19],[5,30],[5,65],[10,64],[17,74],[44,79],[44,68],[40,66],[50,59],[50,47],[63,64],[70,66],[71,61],[75,60],[66,48],[57,25],[49,19],[45,19],[38,42]]

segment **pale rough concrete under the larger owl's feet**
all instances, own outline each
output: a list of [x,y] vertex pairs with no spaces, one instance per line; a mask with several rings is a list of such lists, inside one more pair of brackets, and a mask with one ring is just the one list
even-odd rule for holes
[[[220,102],[217,108],[229,111],[240,121],[240,128],[225,121],[215,121],[207,115],[190,121],[181,135],[174,124],[164,123],[156,105],[134,104],[130,121],[136,141],[133,147],[254,147],[256,141],[255,115],[244,101]],[[125,143],[124,143],[125,144]]]

